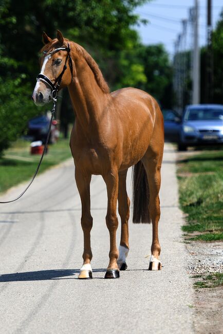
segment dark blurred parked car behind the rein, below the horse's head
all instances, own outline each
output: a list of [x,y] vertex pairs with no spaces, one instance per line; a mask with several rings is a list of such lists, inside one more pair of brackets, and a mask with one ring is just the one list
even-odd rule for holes
[[[43,144],[46,142],[47,133],[49,129],[50,118],[46,115],[32,118],[28,122],[28,136],[33,141],[41,140]],[[52,121],[49,142],[55,143],[59,137],[59,131],[57,129],[57,121]]]

